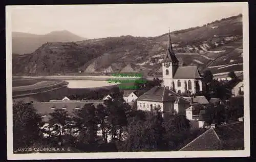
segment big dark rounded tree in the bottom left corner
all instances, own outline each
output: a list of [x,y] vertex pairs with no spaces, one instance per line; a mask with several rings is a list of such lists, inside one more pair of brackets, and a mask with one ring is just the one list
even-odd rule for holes
[[43,126],[42,118],[31,103],[17,102],[13,104],[13,150],[30,147],[40,141]]

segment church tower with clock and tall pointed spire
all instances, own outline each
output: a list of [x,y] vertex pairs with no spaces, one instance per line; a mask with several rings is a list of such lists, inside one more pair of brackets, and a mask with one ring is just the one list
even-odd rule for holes
[[179,61],[173,52],[172,40],[170,38],[170,31],[169,31],[168,48],[162,62],[163,80],[172,80],[178,67],[179,67]]

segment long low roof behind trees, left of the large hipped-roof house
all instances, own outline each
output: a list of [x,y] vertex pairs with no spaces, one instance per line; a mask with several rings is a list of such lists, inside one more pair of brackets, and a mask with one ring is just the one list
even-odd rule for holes
[[93,104],[95,107],[99,104],[103,104],[103,100],[51,100],[51,102],[33,102],[31,103],[37,110],[44,121],[48,121],[50,113],[55,109],[65,109],[70,115],[73,114],[73,110],[81,109],[86,104]]

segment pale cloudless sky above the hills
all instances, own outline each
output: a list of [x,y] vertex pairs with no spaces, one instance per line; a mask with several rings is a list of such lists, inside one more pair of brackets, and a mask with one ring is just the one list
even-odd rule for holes
[[68,30],[88,39],[159,36],[243,13],[241,3],[13,6],[12,31]]

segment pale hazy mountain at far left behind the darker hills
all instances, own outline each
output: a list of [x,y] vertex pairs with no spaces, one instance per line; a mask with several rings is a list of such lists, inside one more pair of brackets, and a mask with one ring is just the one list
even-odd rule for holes
[[72,42],[86,40],[67,30],[53,31],[45,35],[12,32],[12,53],[29,54],[46,42]]

